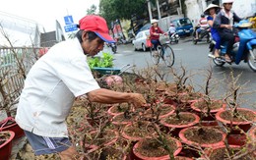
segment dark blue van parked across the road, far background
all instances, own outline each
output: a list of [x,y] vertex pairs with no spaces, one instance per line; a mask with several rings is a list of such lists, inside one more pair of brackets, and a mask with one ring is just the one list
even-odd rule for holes
[[171,23],[176,27],[176,32],[179,36],[189,36],[194,31],[193,25],[188,18],[176,19],[171,21]]

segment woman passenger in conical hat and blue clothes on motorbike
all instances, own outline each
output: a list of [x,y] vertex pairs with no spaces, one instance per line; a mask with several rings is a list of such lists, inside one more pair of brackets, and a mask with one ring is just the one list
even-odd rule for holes
[[214,55],[211,53],[208,55],[211,58],[219,58],[220,57],[219,53],[220,53],[220,49],[221,49],[221,37],[219,35],[217,28],[213,27],[214,20],[217,16],[217,13],[219,12],[219,9],[220,9],[220,7],[218,5],[210,4],[205,9],[205,12],[204,12],[205,15],[208,15],[207,22],[208,22],[208,25],[211,27],[212,37],[216,41]]

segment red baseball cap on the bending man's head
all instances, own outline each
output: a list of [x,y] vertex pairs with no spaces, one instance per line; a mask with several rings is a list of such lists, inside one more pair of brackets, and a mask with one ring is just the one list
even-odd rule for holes
[[103,18],[96,15],[88,15],[79,21],[80,29],[94,31],[97,36],[108,43],[114,43],[113,38],[108,34],[108,27]]

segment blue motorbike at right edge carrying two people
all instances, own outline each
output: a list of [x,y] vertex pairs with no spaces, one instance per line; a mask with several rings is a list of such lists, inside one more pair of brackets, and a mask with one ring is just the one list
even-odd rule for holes
[[[256,32],[253,31],[251,27],[251,23],[248,21],[241,21],[238,24],[233,26],[233,29],[236,29],[235,35],[235,43],[233,44],[232,51],[230,53],[231,62],[229,64],[236,64],[243,60],[244,63],[247,63],[250,69],[256,72]],[[225,63],[224,54],[226,52],[226,44],[227,42],[222,42],[220,58],[214,58],[214,63],[223,67]],[[212,54],[215,53],[215,41],[212,40],[210,43],[210,52]]]

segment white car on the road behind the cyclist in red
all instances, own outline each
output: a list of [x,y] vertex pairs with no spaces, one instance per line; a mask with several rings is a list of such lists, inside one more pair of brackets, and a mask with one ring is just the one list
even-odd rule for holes
[[150,36],[150,29],[143,30],[138,32],[138,34],[135,36],[135,39],[133,40],[133,46],[134,50],[140,50],[146,51],[149,46],[147,46],[147,38]]

